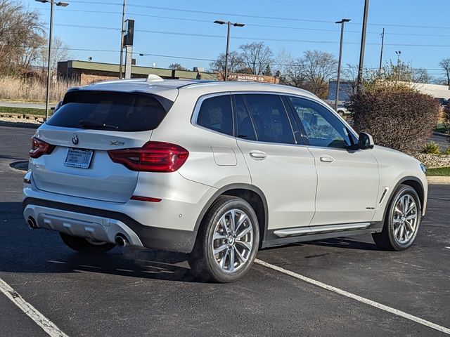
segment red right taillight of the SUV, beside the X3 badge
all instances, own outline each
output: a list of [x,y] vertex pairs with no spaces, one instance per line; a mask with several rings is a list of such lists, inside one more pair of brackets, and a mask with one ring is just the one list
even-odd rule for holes
[[185,163],[189,152],[179,145],[150,141],[140,148],[111,150],[108,154],[112,161],[133,171],[174,172]]

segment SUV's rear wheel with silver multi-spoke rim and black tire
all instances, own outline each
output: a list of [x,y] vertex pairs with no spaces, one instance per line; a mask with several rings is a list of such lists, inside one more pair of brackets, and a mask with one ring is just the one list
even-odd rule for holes
[[221,196],[202,222],[188,263],[196,277],[234,282],[250,270],[258,244],[252,206],[238,197]]

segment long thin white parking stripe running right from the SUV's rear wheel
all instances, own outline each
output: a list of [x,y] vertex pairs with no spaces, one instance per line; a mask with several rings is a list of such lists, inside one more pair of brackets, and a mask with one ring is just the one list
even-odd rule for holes
[[416,316],[410,315],[410,314],[408,314],[406,312],[403,312],[403,311],[400,311],[400,310],[388,307],[387,305],[375,302],[373,300],[369,300],[368,298],[364,298],[364,297],[355,295],[354,293],[349,293],[348,291],[345,291],[345,290],[342,290],[342,289],[338,289],[335,286],[329,286],[328,284],[325,284],[323,282],[316,281],[315,279],[310,279],[309,277],[297,274],[296,272],[291,272],[290,270],[286,270],[286,269],[284,269],[282,267],[278,267],[276,265],[271,265],[270,263],[266,263],[266,262],[264,262],[262,260],[259,260],[259,259],[255,259],[255,263],[257,263],[259,265],[263,265],[264,267],[276,270],[277,272],[282,272],[285,275],[289,275],[291,277],[295,277],[296,279],[300,279],[300,280],[302,280],[304,282],[307,282],[309,284],[314,284],[314,286],[319,286],[320,288],[326,289],[328,291],[333,291],[333,292],[338,293],[338,294],[340,294],[342,296],[346,296],[348,298],[352,298],[354,300],[357,300],[357,301],[359,301],[361,303],[365,303],[367,305],[371,305],[371,306],[373,306],[375,308],[378,308],[380,310],[384,310],[384,311],[390,312],[390,313],[392,313],[394,315],[397,315],[397,316],[400,316],[400,317],[404,317],[406,319],[410,319],[413,322],[416,322],[416,323],[428,326],[428,327],[430,327],[432,329],[435,329],[437,331],[441,331],[443,333],[446,333],[446,334],[450,335],[450,329],[446,328],[445,326],[440,326],[438,324],[429,322],[429,321],[427,321],[425,319],[421,319],[420,317],[416,317]]

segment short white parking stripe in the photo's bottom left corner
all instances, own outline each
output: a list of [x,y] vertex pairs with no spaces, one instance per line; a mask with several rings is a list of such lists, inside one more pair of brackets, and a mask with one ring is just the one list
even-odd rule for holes
[[68,337],[63,331],[58,329],[58,326],[53,324],[50,319],[42,315],[36,308],[22,298],[9,284],[0,279],[0,291],[5,294],[7,298],[17,305],[20,310],[30,317],[37,325],[39,325],[51,337]]

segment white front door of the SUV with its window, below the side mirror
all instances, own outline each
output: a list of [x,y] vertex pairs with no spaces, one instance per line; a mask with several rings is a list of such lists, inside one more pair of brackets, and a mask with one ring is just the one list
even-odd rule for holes
[[316,213],[311,226],[366,223],[375,213],[378,163],[371,149],[349,150],[357,138],[323,103],[289,96],[317,170]]

